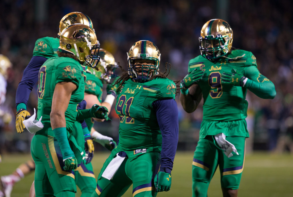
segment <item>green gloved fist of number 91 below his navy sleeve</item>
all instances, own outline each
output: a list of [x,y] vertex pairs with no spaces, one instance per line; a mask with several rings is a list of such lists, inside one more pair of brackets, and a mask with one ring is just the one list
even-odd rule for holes
[[171,188],[171,174],[159,171],[154,179],[156,191],[169,191]]

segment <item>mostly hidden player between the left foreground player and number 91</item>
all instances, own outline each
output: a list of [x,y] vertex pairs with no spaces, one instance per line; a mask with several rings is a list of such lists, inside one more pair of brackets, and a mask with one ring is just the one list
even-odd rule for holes
[[[87,68],[84,93],[84,100],[86,101],[86,106],[82,107],[90,109],[91,106],[97,104],[106,107],[107,109],[109,109],[110,112],[111,106],[117,93],[114,90],[112,90],[113,93],[116,93],[116,95],[112,95],[110,92],[108,93],[105,101],[102,102],[103,81],[107,83],[109,82],[108,86],[112,85],[110,83],[110,79],[112,77],[115,77],[113,75],[113,72],[115,68],[117,68],[117,63],[115,62],[113,55],[104,49],[100,48],[98,55],[100,57],[100,62],[98,63],[98,65],[95,68]],[[112,88],[114,87],[112,86]],[[98,142],[99,144],[101,144],[109,150],[114,149],[116,146],[116,142],[113,140],[113,138],[104,136],[99,132],[95,131],[95,129],[93,128],[93,119],[99,122],[105,120],[97,118],[87,118],[87,127],[84,129],[88,129],[89,131],[91,131],[91,137],[94,141]],[[77,170],[78,177],[76,185],[82,192],[81,197],[91,196],[91,193],[93,193],[93,191],[95,191],[96,189],[96,178],[93,174],[93,166],[91,162],[87,162],[86,164],[81,163],[80,166],[77,167]]]

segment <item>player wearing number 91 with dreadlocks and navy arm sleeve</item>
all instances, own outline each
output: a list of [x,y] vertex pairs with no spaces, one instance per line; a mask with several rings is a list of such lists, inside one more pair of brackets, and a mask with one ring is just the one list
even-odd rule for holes
[[128,72],[116,82],[119,143],[100,171],[94,196],[133,196],[169,191],[178,143],[175,83],[159,72],[160,52],[150,41],[132,45]]

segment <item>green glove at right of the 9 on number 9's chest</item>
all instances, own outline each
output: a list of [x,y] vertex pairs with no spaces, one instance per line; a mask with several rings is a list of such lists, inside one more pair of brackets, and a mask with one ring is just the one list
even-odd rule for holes
[[241,73],[237,72],[236,68],[231,70],[231,73],[224,72],[221,76],[222,84],[234,85],[244,87],[247,78]]

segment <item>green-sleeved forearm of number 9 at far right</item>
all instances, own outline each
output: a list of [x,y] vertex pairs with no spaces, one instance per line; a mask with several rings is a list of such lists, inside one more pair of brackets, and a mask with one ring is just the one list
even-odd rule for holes
[[276,96],[275,85],[271,81],[257,82],[247,79],[244,87],[263,99],[273,99]]

